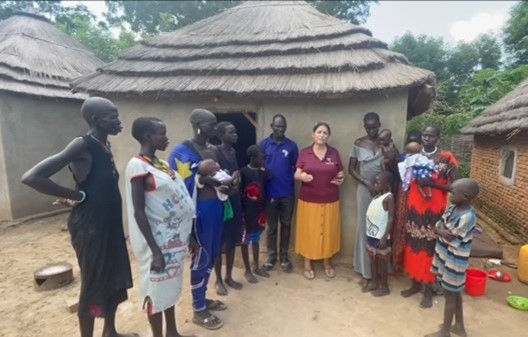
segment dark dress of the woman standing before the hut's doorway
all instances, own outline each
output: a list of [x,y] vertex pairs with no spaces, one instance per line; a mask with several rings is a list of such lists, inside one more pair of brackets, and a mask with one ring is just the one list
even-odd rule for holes
[[[230,175],[238,171],[237,160],[229,161],[222,149],[218,147],[218,164],[223,170],[226,170]],[[222,234],[222,253],[227,253],[233,250],[236,246],[242,243],[242,236],[244,235],[244,227],[242,222],[242,200],[240,193],[229,196],[231,207],[233,208],[233,219],[224,222],[224,231]]]

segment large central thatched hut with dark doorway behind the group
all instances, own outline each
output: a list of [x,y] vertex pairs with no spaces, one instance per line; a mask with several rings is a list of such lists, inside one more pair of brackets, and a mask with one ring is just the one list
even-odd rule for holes
[[[288,120],[299,147],[315,121],[332,126],[332,145],[346,165],[362,117],[376,111],[403,143],[408,114],[426,110],[435,76],[409,64],[364,27],[318,12],[304,1],[251,1],[177,31],[143,41],[74,90],[105,96],[129,129],[138,116],[165,121],[173,143],[191,135],[189,115],[203,107],[238,131],[237,153],[269,135],[275,114]],[[132,137],[113,142],[118,169],[137,152]],[[240,158],[243,165],[247,158]],[[353,251],[355,183],[343,185],[344,256]]]

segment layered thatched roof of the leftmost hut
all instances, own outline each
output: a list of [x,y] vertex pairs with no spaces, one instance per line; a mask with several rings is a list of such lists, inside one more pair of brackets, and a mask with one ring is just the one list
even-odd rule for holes
[[0,91],[84,99],[69,82],[103,64],[43,17],[18,13],[0,22]]

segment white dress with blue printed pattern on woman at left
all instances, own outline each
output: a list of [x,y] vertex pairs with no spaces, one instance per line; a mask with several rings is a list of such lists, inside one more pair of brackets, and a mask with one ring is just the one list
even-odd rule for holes
[[[167,164],[168,167],[168,164]],[[192,228],[195,208],[183,178],[174,179],[141,157],[132,158],[126,169],[127,208],[130,242],[139,264],[143,307],[155,314],[174,306],[182,292],[183,263]],[[134,218],[131,182],[147,179],[154,189],[145,191],[145,214],[158,247],[165,257],[165,270],[150,270],[152,251]]]

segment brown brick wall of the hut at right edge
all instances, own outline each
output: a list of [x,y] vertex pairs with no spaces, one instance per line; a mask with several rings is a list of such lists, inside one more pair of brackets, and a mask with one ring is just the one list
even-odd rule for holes
[[[515,180],[511,186],[499,179],[504,146],[517,148]],[[528,243],[528,132],[510,139],[505,135],[475,135],[471,177],[480,184],[477,208],[521,242]]]

